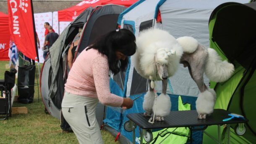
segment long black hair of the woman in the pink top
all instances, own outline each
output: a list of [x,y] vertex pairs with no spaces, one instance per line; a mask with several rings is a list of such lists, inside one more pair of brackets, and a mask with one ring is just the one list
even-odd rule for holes
[[[100,54],[107,56],[109,69],[117,74],[120,70],[125,71],[128,65],[128,57],[125,60],[118,60],[115,52],[120,51],[125,56],[131,56],[136,52],[136,38],[127,29],[110,31],[97,39],[88,49],[97,49]],[[120,62],[120,65],[118,64]]]

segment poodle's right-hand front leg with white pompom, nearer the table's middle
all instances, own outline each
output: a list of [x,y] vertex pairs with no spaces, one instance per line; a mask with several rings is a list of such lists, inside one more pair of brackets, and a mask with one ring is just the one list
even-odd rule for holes
[[162,80],[162,93],[157,97],[157,105],[153,104],[153,111],[155,112],[156,121],[164,121],[164,117],[170,113],[171,100],[169,95],[166,94],[167,80]]

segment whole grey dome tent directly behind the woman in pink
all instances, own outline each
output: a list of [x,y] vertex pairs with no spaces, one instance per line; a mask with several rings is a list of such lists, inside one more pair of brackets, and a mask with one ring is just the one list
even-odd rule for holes
[[[67,79],[67,52],[71,42],[78,33],[78,28],[84,26],[78,43],[76,57],[99,36],[117,28],[118,16],[126,8],[121,5],[102,5],[87,8],[60,34],[50,48],[50,54],[44,61],[40,78],[42,100],[47,111],[54,117],[61,117],[61,102],[64,94],[64,84]],[[104,106],[97,105],[96,117],[102,124]]]

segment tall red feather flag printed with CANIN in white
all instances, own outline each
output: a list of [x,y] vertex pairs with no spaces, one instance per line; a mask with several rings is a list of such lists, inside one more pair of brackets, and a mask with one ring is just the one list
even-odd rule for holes
[[19,51],[37,60],[32,0],[8,0],[10,34]]

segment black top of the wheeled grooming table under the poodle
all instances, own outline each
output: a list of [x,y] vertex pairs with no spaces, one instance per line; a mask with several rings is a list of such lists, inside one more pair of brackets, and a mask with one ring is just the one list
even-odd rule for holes
[[246,123],[248,120],[232,119],[230,121],[222,121],[224,118],[229,118],[230,112],[223,109],[214,109],[211,116],[206,116],[206,119],[198,119],[196,110],[192,111],[170,111],[170,114],[165,117],[165,121],[154,121],[149,123],[150,117],[143,116],[143,113],[130,113],[126,116],[136,123],[142,129],[162,129],[175,127],[191,127],[191,126],[211,126],[223,125],[232,123]]

